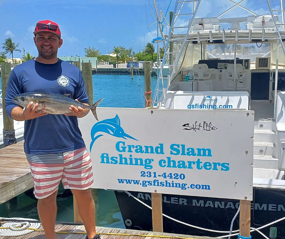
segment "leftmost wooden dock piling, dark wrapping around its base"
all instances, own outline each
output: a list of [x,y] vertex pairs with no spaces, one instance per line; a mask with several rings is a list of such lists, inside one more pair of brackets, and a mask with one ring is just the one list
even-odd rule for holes
[[10,118],[6,113],[5,97],[9,76],[11,74],[11,63],[1,63],[2,73],[2,105],[3,105],[3,142],[4,146],[8,146],[13,143],[17,143],[15,138],[14,120]]

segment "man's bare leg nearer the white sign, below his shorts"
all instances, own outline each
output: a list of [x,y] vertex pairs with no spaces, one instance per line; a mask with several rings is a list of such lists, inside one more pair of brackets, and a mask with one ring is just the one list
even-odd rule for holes
[[96,235],[95,228],[95,205],[91,195],[91,190],[71,190],[77,201],[77,208],[89,239]]

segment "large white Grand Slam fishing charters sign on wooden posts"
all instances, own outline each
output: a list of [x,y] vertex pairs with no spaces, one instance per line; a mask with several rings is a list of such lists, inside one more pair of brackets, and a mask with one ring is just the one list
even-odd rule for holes
[[79,119],[92,187],[252,200],[253,111],[97,108]]

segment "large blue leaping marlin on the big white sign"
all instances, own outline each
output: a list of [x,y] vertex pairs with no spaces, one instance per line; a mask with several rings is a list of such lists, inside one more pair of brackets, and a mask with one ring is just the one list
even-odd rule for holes
[[[95,140],[97,140],[99,137],[103,136],[103,134],[99,134],[99,135],[95,136],[95,134],[98,132],[107,133],[107,134],[110,134],[110,135],[118,137],[118,138],[123,138],[125,140],[127,138],[137,140],[137,139],[133,138],[132,136],[129,136],[128,134],[126,134],[124,132],[124,130],[121,127],[120,118],[118,115],[116,115],[115,118],[99,121],[98,123],[96,123],[92,127],[92,129],[91,129],[92,142],[90,144],[90,152],[91,152],[91,149],[92,149],[92,146],[93,146]],[[139,140],[137,140],[137,141],[139,141]]]

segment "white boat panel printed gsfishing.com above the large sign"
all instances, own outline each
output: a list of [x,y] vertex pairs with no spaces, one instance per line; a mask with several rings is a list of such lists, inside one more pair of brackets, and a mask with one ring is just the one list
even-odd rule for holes
[[[187,96],[187,97],[186,97]],[[249,109],[249,94],[243,92],[167,93],[165,109]]]

